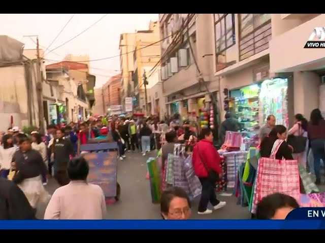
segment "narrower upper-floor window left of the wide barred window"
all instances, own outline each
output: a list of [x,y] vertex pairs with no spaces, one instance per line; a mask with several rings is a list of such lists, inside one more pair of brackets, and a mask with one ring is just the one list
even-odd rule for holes
[[214,14],[215,49],[220,53],[236,43],[235,14]]

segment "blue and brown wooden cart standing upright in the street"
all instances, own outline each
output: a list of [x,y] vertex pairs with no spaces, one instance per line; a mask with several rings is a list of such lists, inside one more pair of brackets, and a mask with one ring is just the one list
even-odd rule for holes
[[120,185],[117,182],[117,154],[116,142],[100,141],[80,146],[80,155],[89,164],[87,181],[99,185],[105,194],[106,202],[115,201],[120,197]]

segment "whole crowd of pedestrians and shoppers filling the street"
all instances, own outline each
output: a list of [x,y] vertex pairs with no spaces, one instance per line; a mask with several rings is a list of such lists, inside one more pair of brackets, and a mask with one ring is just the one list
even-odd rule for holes
[[[260,155],[270,157],[274,153],[276,159],[297,159],[302,166],[309,167],[310,173],[316,176],[315,183],[320,184],[320,160],[325,160],[325,120],[319,109],[311,112],[310,121],[301,114],[295,118],[295,125],[287,131],[284,126],[275,125],[275,116],[269,115],[259,134]],[[220,156],[213,144],[213,131],[201,129],[197,136],[188,122],[176,117],[167,122],[156,117],[115,117],[105,126],[99,118],[64,127],[50,125],[45,134],[39,131],[24,134],[13,127],[0,135],[0,200],[5,201],[0,207],[8,205],[0,208],[1,219],[35,218],[40,201],[49,202],[45,219],[103,219],[106,214],[103,190],[87,183],[88,163],[83,157],[76,156],[82,153],[81,145],[98,139],[117,142],[120,160],[126,157],[127,150],[146,155],[156,149],[166,161],[168,154],[173,153],[175,143],[185,143],[186,151],[192,156],[194,172],[202,184],[198,213],[211,214],[209,202],[214,210],[226,205],[215,194],[215,184],[222,178],[222,170]],[[296,150],[296,144],[290,143],[289,136],[306,138],[305,147]],[[313,159],[307,163],[309,150]],[[52,196],[44,188],[51,176],[60,186]],[[164,219],[190,217],[190,200],[181,188],[167,187],[160,201]],[[87,210],[83,210],[85,207]],[[297,207],[299,204],[294,198],[276,193],[259,202],[256,217],[283,218]]]

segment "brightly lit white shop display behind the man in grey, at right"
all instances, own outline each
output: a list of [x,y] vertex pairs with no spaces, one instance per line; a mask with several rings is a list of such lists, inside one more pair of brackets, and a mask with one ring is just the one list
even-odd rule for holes
[[277,125],[288,128],[287,89],[287,78],[272,78],[262,83],[259,94],[261,124],[265,124],[268,115],[273,114]]

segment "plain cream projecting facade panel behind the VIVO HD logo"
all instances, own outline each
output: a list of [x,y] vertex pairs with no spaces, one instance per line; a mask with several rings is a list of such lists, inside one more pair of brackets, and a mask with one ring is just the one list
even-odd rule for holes
[[313,70],[324,65],[323,49],[304,49],[319,23],[325,23],[325,14],[273,37],[270,41],[270,72]]

